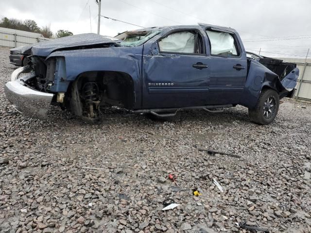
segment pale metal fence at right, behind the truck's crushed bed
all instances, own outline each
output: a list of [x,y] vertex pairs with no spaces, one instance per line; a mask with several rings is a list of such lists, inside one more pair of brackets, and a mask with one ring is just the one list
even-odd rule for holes
[[293,62],[299,68],[299,78],[296,85],[296,100],[311,101],[311,59],[280,58],[284,62]]

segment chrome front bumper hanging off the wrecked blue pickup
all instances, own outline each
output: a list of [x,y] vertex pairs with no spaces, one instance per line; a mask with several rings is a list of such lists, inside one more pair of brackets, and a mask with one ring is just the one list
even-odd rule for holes
[[25,70],[25,67],[20,67],[12,73],[11,82],[4,86],[6,98],[18,112],[32,118],[46,119],[54,95],[31,89],[18,79]]

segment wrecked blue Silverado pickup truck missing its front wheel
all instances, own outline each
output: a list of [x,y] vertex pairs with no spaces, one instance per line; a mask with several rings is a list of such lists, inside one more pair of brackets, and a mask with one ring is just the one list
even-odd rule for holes
[[169,117],[240,104],[253,122],[269,124],[279,100],[294,96],[299,75],[293,63],[247,58],[237,31],[207,24],[73,35],[22,53],[28,66],[12,73],[5,93],[17,111],[36,118],[51,104],[89,121],[104,106]]

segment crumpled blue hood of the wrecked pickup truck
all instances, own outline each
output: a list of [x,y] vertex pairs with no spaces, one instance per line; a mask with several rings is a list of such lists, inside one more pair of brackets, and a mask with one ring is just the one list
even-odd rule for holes
[[121,40],[114,37],[98,35],[95,33],[84,33],[48,40],[31,46],[25,46],[22,48],[21,53],[46,57],[56,50],[64,50],[68,48],[81,49],[84,47],[89,48],[95,45],[104,45],[120,42]]

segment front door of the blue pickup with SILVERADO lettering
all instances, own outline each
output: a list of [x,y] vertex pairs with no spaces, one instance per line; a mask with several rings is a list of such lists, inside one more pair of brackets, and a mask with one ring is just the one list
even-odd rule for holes
[[152,44],[152,54],[144,48],[142,108],[207,103],[209,71],[203,33],[198,29],[171,31]]

